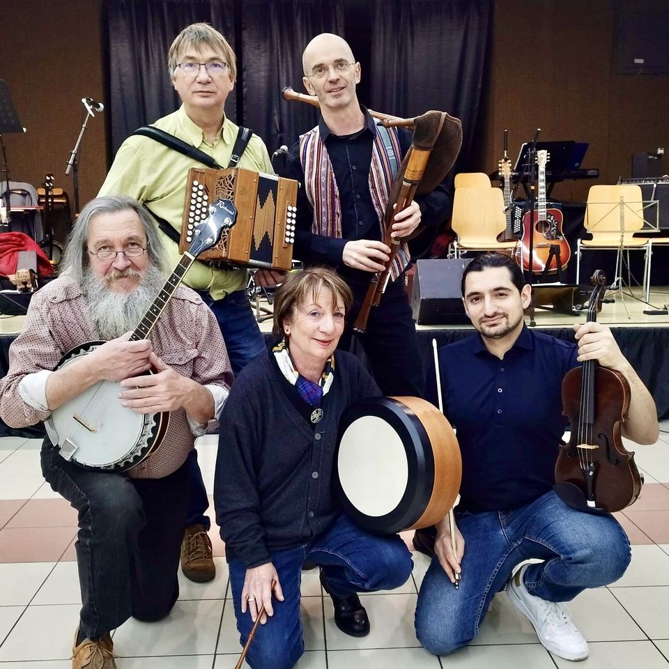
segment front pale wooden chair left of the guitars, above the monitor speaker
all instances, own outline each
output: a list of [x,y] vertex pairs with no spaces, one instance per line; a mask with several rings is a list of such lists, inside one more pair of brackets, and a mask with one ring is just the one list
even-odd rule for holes
[[[487,177],[486,177],[487,179]],[[454,256],[463,251],[512,251],[517,242],[498,242],[506,226],[504,194],[499,188],[455,189],[451,226],[456,233]]]

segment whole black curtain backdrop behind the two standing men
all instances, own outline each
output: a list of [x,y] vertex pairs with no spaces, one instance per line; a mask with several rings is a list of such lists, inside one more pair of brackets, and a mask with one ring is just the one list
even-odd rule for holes
[[135,128],[178,106],[167,49],[197,21],[220,30],[237,54],[227,116],[259,134],[270,153],[316,123],[316,109],[280,93],[284,86],[304,92],[302,50],[321,32],[351,45],[364,105],[397,116],[443,109],[463,119],[458,164],[472,151],[492,0],[103,0],[102,17],[112,153]]

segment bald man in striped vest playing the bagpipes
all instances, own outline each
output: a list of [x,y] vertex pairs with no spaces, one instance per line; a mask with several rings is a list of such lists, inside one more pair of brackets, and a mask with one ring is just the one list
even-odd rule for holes
[[[302,184],[298,194],[295,257],[307,266],[327,265],[346,279],[353,308],[339,348],[349,348],[370,279],[384,269],[390,248],[383,243],[383,218],[390,186],[411,145],[403,129],[383,128],[357,100],[360,63],[337,35],[323,33],[302,54],[302,81],[321,103],[316,128],[295,142],[286,160],[287,176]],[[419,225],[436,227],[449,215],[443,187],[416,198],[394,217],[392,235],[403,238]],[[404,272],[410,263],[402,244],[392,264],[380,305],[371,309],[360,341],[372,371],[387,395],[421,396],[424,374]]]

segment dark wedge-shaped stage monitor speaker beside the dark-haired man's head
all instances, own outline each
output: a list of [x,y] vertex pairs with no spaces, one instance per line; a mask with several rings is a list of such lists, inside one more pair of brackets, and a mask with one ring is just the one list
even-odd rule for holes
[[419,260],[413,279],[411,305],[418,325],[470,323],[460,292],[462,272],[470,260]]

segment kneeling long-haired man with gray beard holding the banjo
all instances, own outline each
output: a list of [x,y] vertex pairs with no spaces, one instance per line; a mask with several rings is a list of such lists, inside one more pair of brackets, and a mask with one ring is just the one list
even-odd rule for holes
[[[101,380],[121,382],[123,406],[170,412],[162,444],[123,474],[66,461],[45,440],[42,470],[79,512],[76,544],[82,611],[72,668],[114,668],[109,632],[128,620],[160,620],[178,597],[194,437],[214,429],[232,372],[213,313],[179,286],[148,339],[128,341],[166,278],[160,232],[137,201],[100,197],[83,209],[61,277],[31,300],[0,380],[10,426],[45,420]],[[56,369],[86,341],[109,339]],[[141,376],[148,369],[155,374]]]

